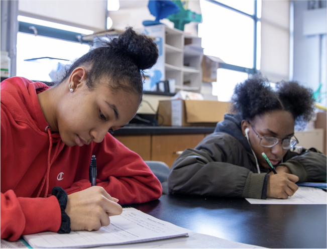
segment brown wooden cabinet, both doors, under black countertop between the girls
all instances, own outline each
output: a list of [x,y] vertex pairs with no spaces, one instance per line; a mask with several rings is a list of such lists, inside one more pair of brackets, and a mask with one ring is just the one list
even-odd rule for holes
[[204,134],[184,135],[139,135],[115,136],[131,151],[139,154],[144,161],[161,161],[169,167],[187,148],[194,148],[204,139]]

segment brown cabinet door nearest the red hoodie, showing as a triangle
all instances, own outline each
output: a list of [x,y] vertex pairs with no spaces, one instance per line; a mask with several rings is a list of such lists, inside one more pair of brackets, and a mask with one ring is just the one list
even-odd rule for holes
[[141,156],[144,161],[151,160],[151,136],[115,136],[115,138]]

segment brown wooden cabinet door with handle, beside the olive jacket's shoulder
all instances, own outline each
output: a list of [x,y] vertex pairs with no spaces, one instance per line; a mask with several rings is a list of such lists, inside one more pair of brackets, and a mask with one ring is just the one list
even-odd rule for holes
[[161,161],[169,167],[187,148],[194,148],[204,139],[204,134],[152,135],[152,161]]

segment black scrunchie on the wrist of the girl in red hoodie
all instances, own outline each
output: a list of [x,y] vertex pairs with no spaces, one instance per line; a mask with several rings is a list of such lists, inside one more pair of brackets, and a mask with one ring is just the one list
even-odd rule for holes
[[57,232],[70,233],[70,218],[65,212],[68,200],[67,193],[61,187],[56,186],[53,187],[51,194],[57,197],[61,209],[61,226]]

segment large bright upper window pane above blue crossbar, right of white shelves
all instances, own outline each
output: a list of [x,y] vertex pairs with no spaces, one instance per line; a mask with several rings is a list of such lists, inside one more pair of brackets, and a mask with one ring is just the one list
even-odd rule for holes
[[253,68],[254,20],[200,0],[203,23],[199,24],[204,54],[228,64]]

